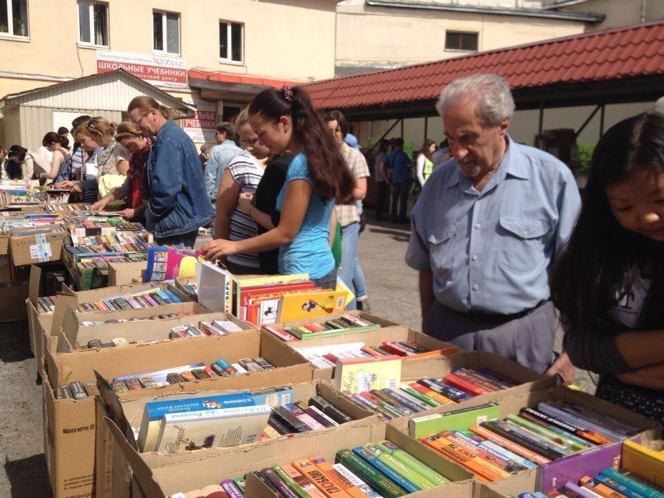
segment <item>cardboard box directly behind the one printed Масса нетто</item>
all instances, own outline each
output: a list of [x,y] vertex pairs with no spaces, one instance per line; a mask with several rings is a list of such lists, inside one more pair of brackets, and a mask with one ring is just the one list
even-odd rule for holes
[[[193,312],[194,315],[173,317],[163,320],[139,320],[136,322],[126,323],[113,323],[113,324],[100,324],[93,326],[82,325],[82,322],[99,320],[99,313],[74,313],[72,308],[67,308],[65,311],[64,320],[62,322],[62,335],[59,336],[57,342],[57,353],[70,353],[77,349],[85,349],[86,344],[90,340],[100,339],[102,342],[111,342],[112,339],[122,337],[127,341],[132,342],[135,340],[142,340],[144,342],[151,340],[167,340],[169,338],[170,329],[174,326],[192,323],[198,326],[201,320],[212,322],[212,320],[225,320],[232,321],[243,330],[249,330],[252,326],[246,322],[238,320],[232,315],[225,315],[224,313],[210,313],[208,310],[195,302],[185,302],[179,304],[171,304],[169,306],[178,306],[180,311],[171,313],[188,313]],[[113,317],[127,318],[147,318],[154,315],[154,311],[150,309],[136,309],[127,311],[116,311],[115,313],[106,313],[103,318]],[[187,339],[187,338],[185,338]],[[200,338],[192,338],[194,340]],[[76,347],[79,344],[80,347]],[[53,354],[53,351],[49,351]]]

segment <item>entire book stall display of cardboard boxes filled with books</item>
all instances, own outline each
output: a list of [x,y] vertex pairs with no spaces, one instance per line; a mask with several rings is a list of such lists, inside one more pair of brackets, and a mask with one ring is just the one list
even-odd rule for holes
[[232,275],[21,182],[0,202],[55,498],[664,498],[661,427],[346,311],[341,282]]

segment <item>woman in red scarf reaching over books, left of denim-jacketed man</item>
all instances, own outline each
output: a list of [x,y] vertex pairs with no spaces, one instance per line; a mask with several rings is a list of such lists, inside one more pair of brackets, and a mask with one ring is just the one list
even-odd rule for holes
[[127,178],[120,187],[91,205],[90,210],[103,210],[108,203],[126,199],[127,208],[119,212],[120,216],[129,221],[137,221],[145,225],[145,209],[143,208],[141,189],[151,140],[138,131],[131,121],[122,121],[118,124],[116,140],[131,153]]

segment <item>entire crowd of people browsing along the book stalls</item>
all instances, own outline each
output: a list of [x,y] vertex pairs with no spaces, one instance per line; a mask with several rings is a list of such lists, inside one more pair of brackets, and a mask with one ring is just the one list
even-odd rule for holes
[[[402,138],[380,140],[374,161],[376,219],[391,194],[389,220],[412,228],[405,261],[423,331],[566,384],[574,365],[590,369],[598,396],[664,421],[664,114],[602,136],[582,203],[569,167],[508,134],[515,104],[501,77],[461,77],[436,109],[445,140],[425,140],[414,167]],[[51,182],[92,210],[122,203],[164,245],[192,248],[212,226],[202,254],[232,273],[341,279],[349,308],[369,309],[358,239],[370,172],[340,111],[322,115],[297,87],[268,89],[200,153],[154,99],[127,113],[117,127],[77,118],[71,147],[66,129],[46,133],[45,151],[0,147],[3,174]]]

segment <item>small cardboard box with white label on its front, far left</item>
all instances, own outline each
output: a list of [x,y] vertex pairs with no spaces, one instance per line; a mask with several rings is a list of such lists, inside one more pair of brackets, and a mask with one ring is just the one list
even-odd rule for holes
[[[57,228],[62,225],[53,225]],[[48,232],[38,235],[15,236],[24,228],[14,228],[9,231],[9,254],[15,266],[44,263],[46,261],[59,261],[62,259],[64,242],[69,238],[66,230],[61,232]]]

